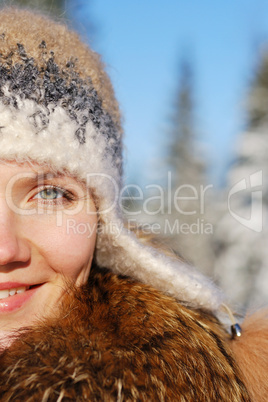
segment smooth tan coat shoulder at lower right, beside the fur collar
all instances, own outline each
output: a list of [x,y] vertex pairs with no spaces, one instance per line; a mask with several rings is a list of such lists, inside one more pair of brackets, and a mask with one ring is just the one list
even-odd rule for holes
[[268,309],[246,317],[242,336],[231,341],[231,348],[254,402],[268,397]]

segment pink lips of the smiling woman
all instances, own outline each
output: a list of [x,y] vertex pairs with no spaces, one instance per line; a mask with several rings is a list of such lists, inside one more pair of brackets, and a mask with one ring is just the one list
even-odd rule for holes
[[[12,286],[10,286],[10,284]],[[4,287],[3,287],[4,285]],[[8,286],[6,286],[8,285]],[[14,286],[15,285],[15,286]],[[14,296],[6,297],[5,299],[0,300],[0,314],[1,313],[10,313],[21,308],[25,303],[27,303],[32,296],[38,291],[38,289],[43,285],[43,283],[39,285],[34,285],[34,287],[26,290],[23,293],[15,294]],[[18,282],[5,282],[4,284],[0,284],[0,290],[3,289],[12,289],[20,286],[29,286],[25,284],[21,284]],[[33,285],[31,285],[33,286]]]

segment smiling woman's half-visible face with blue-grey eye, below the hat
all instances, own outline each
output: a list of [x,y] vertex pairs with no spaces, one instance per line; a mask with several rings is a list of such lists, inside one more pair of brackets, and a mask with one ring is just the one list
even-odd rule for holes
[[37,164],[0,162],[0,331],[55,310],[68,281],[86,282],[96,210],[83,184]]

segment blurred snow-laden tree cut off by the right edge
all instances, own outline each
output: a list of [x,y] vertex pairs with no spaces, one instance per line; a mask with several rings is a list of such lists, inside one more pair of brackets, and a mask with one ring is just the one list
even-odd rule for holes
[[230,299],[245,307],[268,302],[268,55],[248,94],[247,124],[236,145],[226,212],[215,233],[216,274]]

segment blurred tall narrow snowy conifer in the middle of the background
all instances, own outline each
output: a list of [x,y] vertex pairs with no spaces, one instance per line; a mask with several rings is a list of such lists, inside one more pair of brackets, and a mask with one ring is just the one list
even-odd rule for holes
[[180,64],[177,98],[171,120],[168,167],[172,178],[172,208],[167,216],[173,248],[210,274],[213,266],[208,217],[211,186],[207,185],[204,148],[196,127],[193,70],[189,59]]

